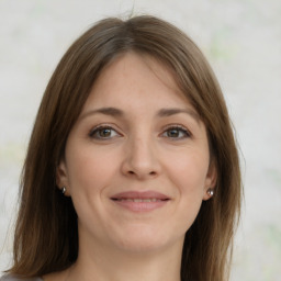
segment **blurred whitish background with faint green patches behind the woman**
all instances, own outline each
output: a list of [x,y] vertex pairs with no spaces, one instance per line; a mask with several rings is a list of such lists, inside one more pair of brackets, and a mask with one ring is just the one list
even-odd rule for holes
[[11,265],[21,167],[58,60],[97,20],[145,13],[201,47],[236,127],[245,202],[232,280],[280,281],[280,0],[0,0],[0,271]]

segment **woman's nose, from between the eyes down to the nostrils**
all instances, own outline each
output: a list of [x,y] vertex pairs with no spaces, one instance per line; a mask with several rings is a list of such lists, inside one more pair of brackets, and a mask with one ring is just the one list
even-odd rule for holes
[[151,139],[131,139],[125,147],[122,173],[126,177],[145,180],[160,173],[159,155]]

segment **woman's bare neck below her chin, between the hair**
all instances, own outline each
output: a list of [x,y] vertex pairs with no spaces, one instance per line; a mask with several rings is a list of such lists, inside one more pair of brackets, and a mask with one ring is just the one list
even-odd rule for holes
[[165,249],[106,249],[104,245],[79,244],[77,262],[68,281],[180,281],[181,245]]

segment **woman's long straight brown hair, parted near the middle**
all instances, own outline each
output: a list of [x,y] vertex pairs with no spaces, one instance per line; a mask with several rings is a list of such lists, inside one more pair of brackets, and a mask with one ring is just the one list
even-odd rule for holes
[[171,70],[205,124],[217,170],[215,195],[202,203],[186,234],[181,280],[228,280],[243,193],[233,125],[215,75],[199,47],[172,24],[149,15],[98,22],[69,47],[55,69],[22,171],[13,266],[7,272],[43,276],[76,261],[77,214],[71,199],[63,196],[56,186],[56,169],[97,77],[126,52],[149,55]]

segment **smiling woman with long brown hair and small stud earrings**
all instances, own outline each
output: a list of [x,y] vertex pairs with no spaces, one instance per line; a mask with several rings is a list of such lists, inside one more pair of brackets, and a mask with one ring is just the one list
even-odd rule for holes
[[57,66],[1,280],[228,280],[241,196],[209,64],[153,16],[105,19]]

